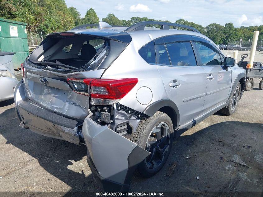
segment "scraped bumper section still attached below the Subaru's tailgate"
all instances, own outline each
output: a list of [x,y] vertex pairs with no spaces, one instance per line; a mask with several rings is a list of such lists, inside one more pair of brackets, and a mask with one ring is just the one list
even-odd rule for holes
[[82,123],[52,113],[27,100],[24,83],[21,80],[14,92],[17,117],[25,128],[51,138],[66,140],[79,145],[78,126]]

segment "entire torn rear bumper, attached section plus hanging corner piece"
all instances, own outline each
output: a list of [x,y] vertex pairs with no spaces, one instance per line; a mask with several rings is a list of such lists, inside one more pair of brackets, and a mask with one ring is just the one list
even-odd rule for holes
[[[15,88],[14,99],[22,126],[41,135],[80,143],[78,126],[82,123],[28,101],[22,80]],[[87,146],[87,162],[103,190],[129,191],[136,167],[151,153],[89,116],[83,122],[82,135]]]

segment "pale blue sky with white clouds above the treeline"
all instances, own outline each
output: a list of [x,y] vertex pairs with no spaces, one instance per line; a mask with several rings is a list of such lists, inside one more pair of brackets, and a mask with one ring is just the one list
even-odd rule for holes
[[68,7],[76,7],[85,16],[94,8],[100,20],[108,13],[119,19],[132,16],[175,22],[185,19],[206,26],[210,23],[235,27],[263,25],[262,0],[65,0]]

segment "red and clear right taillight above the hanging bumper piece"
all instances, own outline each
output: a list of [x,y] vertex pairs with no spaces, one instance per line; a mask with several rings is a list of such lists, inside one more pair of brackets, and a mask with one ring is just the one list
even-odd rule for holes
[[68,79],[68,82],[75,92],[91,96],[92,105],[112,105],[128,94],[138,79]]

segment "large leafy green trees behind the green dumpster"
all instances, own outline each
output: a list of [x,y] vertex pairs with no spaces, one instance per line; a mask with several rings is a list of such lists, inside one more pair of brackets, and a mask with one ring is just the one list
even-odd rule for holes
[[73,17],[64,0],[1,0],[0,17],[27,23],[27,30],[44,33],[69,30]]

